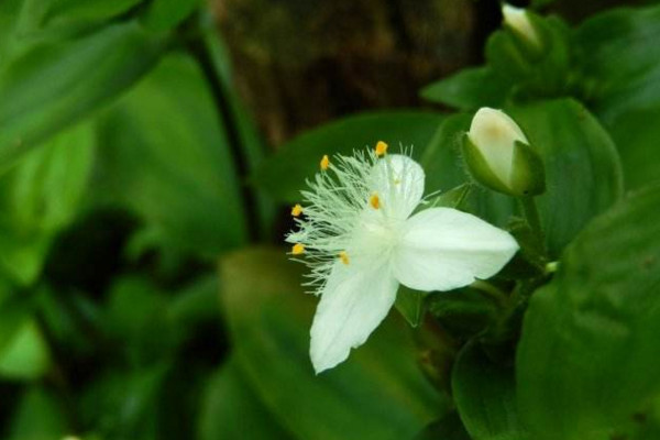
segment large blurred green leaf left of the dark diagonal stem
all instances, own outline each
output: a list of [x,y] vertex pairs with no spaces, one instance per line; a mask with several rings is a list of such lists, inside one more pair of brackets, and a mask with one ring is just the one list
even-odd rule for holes
[[212,256],[245,240],[227,134],[191,58],[166,57],[99,132],[99,204],[130,208],[162,246],[187,253]]

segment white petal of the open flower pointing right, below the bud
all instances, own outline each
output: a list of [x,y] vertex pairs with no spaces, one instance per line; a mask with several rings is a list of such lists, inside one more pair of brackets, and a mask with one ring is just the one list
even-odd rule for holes
[[432,208],[406,221],[392,267],[410,288],[451,290],[495,275],[517,250],[508,232],[477,217]]

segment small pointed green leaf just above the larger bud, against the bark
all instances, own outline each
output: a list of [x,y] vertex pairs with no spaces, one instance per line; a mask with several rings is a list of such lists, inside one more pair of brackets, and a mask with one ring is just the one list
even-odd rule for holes
[[502,107],[513,84],[490,67],[472,67],[425,87],[420,95],[432,102],[459,110]]

